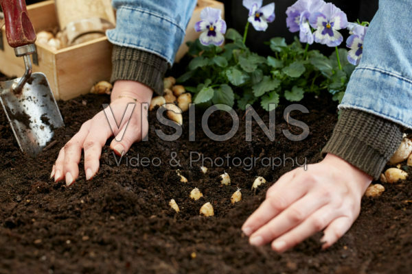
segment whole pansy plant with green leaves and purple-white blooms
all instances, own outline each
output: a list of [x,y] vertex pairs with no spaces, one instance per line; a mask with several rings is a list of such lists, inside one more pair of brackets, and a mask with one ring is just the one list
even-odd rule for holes
[[[245,41],[249,25],[265,31],[268,23],[274,21],[275,3],[242,3],[249,10],[243,36],[235,29],[227,29],[220,10],[205,8],[201,12],[201,21],[195,25],[201,36],[187,42],[193,59],[187,72],[177,79],[194,94],[194,103],[237,105],[244,110],[247,105],[260,102],[264,110],[270,111],[281,98],[295,102],[303,99],[306,92],[319,95],[323,90],[341,101],[354,64],[361,60],[367,23],[348,23],[344,12],[323,0],[297,0],[286,11],[286,24],[290,32],[299,32],[299,39],[288,45],[284,38],[272,38],[266,44],[273,55],[265,58],[253,53]],[[339,31],[345,28],[351,35],[347,40],[349,52],[338,49],[343,42]],[[301,42],[306,43],[306,48]],[[328,58],[317,50],[309,51],[313,42],[335,47],[337,62],[334,55]]]

